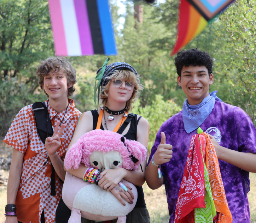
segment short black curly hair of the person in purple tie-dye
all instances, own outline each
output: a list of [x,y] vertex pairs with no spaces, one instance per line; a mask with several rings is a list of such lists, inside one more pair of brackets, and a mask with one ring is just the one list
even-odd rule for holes
[[198,49],[188,49],[186,51],[179,51],[175,57],[175,66],[178,75],[181,77],[181,70],[183,66],[205,66],[208,70],[208,74],[213,72],[213,59],[209,53]]

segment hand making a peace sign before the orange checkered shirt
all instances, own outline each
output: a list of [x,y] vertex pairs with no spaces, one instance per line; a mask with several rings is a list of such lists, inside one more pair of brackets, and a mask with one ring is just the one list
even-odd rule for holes
[[[46,138],[45,147],[46,147],[46,151],[49,156],[54,155],[54,153],[56,153],[57,150],[59,149],[59,147],[61,145],[60,137],[63,134],[64,128],[65,128],[65,125],[63,124],[59,130],[59,121],[58,121],[52,137]],[[58,134],[58,131],[59,131],[59,134]]]

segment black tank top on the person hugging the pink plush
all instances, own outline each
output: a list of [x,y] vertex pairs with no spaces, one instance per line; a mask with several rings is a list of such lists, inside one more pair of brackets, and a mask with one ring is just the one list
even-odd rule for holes
[[[93,116],[93,130],[94,130],[97,127],[99,113],[98,113],[97,109],[91,110],[91,112],[92,112],[92,116]],[[129,128],[128,132],[124,135],[124,137],[126,139],[130,139],[130,140],[136,140],[137,139],[137,125],[138,125],[138,122],[139,122],[140,118],[141,118],[141,116],[137,120],[137,115],[133,114],[133,113],[130,113],[128,115],[128,117],[126,118],[126,121],[130,120],[131,124],[130,124],[130,128]],[[129,123],[129,122],[127,123],[126,121],[118,129],[117,133],[119,133],[119,134],[123,133],[124,129],[126,128],[126,126]],[[103,128],[102,123],[100,125],[100,129],[105,130]],[[146,207],[146,203],[145,203],[144,193],[143,193],[142,187],[138,187],[138,186],[135,186],[135,187],[137,188],[137,191],[138,191],[138,199],[137,199],[137,202],[136,202],[136,205],[135,205],[134,208],[136,208],[136,207]]]

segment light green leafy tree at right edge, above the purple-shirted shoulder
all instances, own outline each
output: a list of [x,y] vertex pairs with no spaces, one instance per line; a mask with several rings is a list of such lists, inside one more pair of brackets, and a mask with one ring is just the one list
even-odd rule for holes
[[221,95],[241,107],[256,123],[256,1],[235,2],[220,17],[218,37],[225,40],[218,55]]

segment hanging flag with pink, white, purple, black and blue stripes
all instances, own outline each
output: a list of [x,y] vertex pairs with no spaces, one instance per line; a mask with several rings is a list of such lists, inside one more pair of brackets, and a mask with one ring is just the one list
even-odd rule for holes
[[108,0],[48,0],[57,56],[116,55]]

